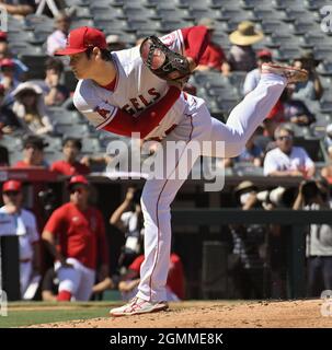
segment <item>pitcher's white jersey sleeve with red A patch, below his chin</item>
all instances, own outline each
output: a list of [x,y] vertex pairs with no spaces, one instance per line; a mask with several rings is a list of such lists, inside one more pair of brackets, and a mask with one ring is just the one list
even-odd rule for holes
[[99,130],[116,115],[118,108],[103,101],[94,91],[92,83],[80,81],[73,95],[73,105]]

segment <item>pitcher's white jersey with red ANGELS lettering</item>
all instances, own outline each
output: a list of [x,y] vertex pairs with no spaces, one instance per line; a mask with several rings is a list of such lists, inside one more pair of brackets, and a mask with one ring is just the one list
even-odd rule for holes
[[[161,40],[172,50],[184,54],[183,37],[180,30],[163,36]],[[114,91],[106,90],[90,79],[80,80],[73,95],[75,106],[96,127],[103,129],[123,109],[137,117],[145,108],[162,98],[168,83],[154,75],[142,62],[139,47],[112,52],[117,70]],[[167,131],[178,125],[190,107],[201,105],[203,100],[181,93],[159,126],[145,139],[164,138]],[[141,120],[144,122],[144,120]]]

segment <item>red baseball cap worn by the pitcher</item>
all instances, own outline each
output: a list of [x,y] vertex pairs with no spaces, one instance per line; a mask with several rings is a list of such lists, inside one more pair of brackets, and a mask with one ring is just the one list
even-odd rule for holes
[[75,55],[84,52],[90,47],[107,48],[105,35],[96,28],[81,26],[69,32],[66,48],[57,50],[55,55]]

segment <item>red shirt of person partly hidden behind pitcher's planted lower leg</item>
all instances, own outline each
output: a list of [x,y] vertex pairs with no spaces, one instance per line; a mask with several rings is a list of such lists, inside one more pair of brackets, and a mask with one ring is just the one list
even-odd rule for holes
[[[144,255],[138,256],[129,266],[129,270],[136,271],[139,276],[140,266],[145,259]],[[170,269],[167,287],[181,300],[184,299],[184,273],[179,255],[172,253],[170,257]]]

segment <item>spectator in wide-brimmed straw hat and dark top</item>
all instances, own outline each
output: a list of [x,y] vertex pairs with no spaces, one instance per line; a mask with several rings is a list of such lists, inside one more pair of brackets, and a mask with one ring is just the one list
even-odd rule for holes
[[263,38],[264,34],[255,31],[252,22],[241,22],[238,30],[229,35],[229,40],[232,44],[227,59],[230,70],[250,72],[256,68],[256,55],[252,45]]

